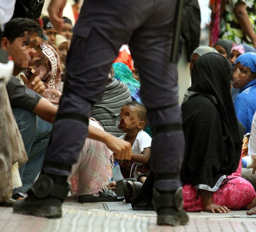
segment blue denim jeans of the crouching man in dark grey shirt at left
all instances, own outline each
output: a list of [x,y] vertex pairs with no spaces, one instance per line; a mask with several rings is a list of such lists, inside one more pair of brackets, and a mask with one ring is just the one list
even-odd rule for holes
[[14,189],[13,194],[17,192],[26,194],[41,171],[52,124],[23,108],[13,108],[12,111],[29,159],[19,169],[23,186]]

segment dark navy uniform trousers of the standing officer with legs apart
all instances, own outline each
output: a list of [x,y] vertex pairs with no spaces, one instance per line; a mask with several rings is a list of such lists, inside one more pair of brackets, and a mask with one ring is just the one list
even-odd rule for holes
[[[177,0],[84,0],[67,56],[67,74],[58,115],[90,117],[101,100],[113,59],[122,44],[129,44],[139,70],[140,96],[152,127],[180,123],[177,64],[170,62]],[[73,165],[78,161],[87,124],[76,119],[56,120],[46,155],[47,162]],[[180,173],[184,153],[182,130],[157,133],[151,145],[154,173]],[[44,172],[69,175],[54,165]],[[158,190],[175,190],[179,178],[155,182]]]

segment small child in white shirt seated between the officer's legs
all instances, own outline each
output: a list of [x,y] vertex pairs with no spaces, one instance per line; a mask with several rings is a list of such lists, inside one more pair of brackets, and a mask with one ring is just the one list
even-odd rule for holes
[[[135,165],[135,176],[139,173],[148,174],[151,137],[143,131],[147,126],[147,110],[144,105],[138,102],[128,102],[120,112],[119,129],[125,135],[119,137],[131,143],[131,160],[119,161],[120,169],[124,178],[132,177],[133,166]],[[139,180],[138,180],[139,181]],[[145,181],[145,180],[144,180]],[[143,182],[144,182],[143,181]]]

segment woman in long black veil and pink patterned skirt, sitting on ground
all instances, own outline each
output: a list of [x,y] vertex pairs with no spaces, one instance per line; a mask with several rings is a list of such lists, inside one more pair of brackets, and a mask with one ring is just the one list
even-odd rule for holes
[[[234,184],[237,189],[238,183],[244,181],[237,177],[239,172],[235,173],[241,158],[242,133],[239,133],[230,95],[231,78],[230,63],[226,58],[213,53],[200,57],[192,69],[192,85],[182,104],[186,141],[181,170],[183,196],[191,194],[188,193],[191,187],[198,190],[203,205],[200,202],[196,205],[201,204],[208,212],[230,212],[228,207],[244,207],[253,199],[244,202],[245,192],[239,196],[239,192],[233,191],[236,202],[232,203],[230,193],[226,191],[227,187],[232,190]],[[249,183],[245,184],[250,188]],[[255,196],[255,192],[252,195]],[[237,205],[239,201],[243,201],[243,205]],[[196,199],[193,204],[187,202],[184,208],[194,211],[189,207],[195,207],[195,202]]]

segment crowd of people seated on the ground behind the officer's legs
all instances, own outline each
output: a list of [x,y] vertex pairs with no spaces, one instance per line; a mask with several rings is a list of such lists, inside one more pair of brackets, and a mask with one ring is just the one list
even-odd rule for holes
[[[7,118],[1,120],[0,151],[7,149],[9,154],[3,161],[7,169],[0,172],[1,202],[26,198],[41,171],[63,85],[67,85],[65,63],[73,25],[63,19],[65,27],[58,31],[47,16],[41,26],[36,22],[40,20],[15,18],[1,34],[1,52],[14,62],[10,81],[0,87],[0,118]],[[88,138],[69,177],[70,197],[81,203],[125,198],[133,209],[153,209],[152,132],[140,99],[140,73],[134,67],[129,46],[122,45],[106,77],[102,101],[93,106]],[[181,105],[185,211],[247,209],[248,214],[256,214],[255,67],[255,49],[229,40],[192,53],[192,85]],[[246,133],[251,133],[247,156],[252,157],[247,168],[241,155]],[[111,181],[116,174],[112,154],[126,141],[132,156],[118,161],[122,179],[116,183]],[[14,167],[19,167],[20,185],[13,185]]]

